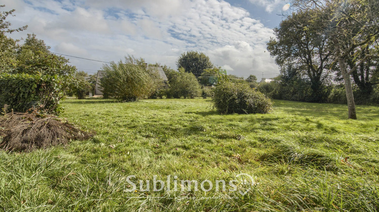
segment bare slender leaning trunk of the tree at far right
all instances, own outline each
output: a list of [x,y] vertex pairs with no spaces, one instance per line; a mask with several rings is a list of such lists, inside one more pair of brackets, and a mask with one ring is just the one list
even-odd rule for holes
[[338,41],[336,43],[336,54],[338,58],[338,64],[340,65],[341,74],[345,82],[346,99],[348,102],[349,109],[349,119],[357,119],[357,114],[355,112],[353,87],[351,85],[350,75],[346,69],[345,59],[341,57],[341,49]]

